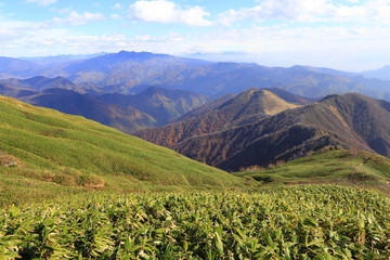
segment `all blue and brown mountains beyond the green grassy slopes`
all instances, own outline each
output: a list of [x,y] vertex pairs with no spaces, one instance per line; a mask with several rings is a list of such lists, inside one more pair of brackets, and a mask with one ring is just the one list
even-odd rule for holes
[[390,101],[387,67],[354,74],[126,51],[0,57],[0,94],[135,131],[222,169],[266,167],[326,146],[390,156],[389,103],[370,99]]

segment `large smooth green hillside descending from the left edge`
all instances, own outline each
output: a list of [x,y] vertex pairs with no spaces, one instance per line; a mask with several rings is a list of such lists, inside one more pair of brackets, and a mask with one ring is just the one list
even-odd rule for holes
[[242,184],[224,171],[98,122],[4,96],[0,136],[0,202],[86,188],[132,192]]

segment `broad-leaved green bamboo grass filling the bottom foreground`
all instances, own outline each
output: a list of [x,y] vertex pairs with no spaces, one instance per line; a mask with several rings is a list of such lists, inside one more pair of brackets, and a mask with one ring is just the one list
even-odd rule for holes
[[1,259],[388,259],[390,199],[338,186],[95,195],[0,212]]

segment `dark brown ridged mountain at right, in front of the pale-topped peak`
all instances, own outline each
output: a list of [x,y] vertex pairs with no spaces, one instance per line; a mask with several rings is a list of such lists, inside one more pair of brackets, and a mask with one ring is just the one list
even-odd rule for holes
[[[222,169],[288,161],[325,146],[358,148],[390,156],[389,103],[359,94],[333,96],[235,130],[246,136],[218,162]],[[226,133],[230,134],[230,133]],[[238,139],[239,140],[239,139]]]

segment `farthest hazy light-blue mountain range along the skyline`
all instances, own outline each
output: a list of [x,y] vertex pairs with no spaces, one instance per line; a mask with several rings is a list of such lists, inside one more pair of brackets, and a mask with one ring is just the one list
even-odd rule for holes
[[133,94],[154,86],[218,98],[250,88],[282,88],[307,98],[358,92],[390,100],[390,81],[386,80],[389,79],[386,76],[388,67],[354,74],[308,66],[283,68],[252,63],[211,63],[126,51],[72,58],[60,56],[53,63],[47,57],[40,60],[47,62],[39,62],[37,58],[0,57],[0,77],[63,77],[75,84],[72,90],[94,94]]

